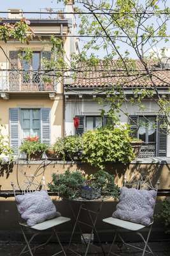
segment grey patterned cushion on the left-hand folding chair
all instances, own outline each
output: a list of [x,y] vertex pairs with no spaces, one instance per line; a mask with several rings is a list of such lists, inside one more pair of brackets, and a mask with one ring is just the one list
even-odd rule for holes
[[28,226],[60,216],[60,212],[56,211],[55,205],[45,190],[18,195],[16,201],[18,211],[22,219],[27,221]]

